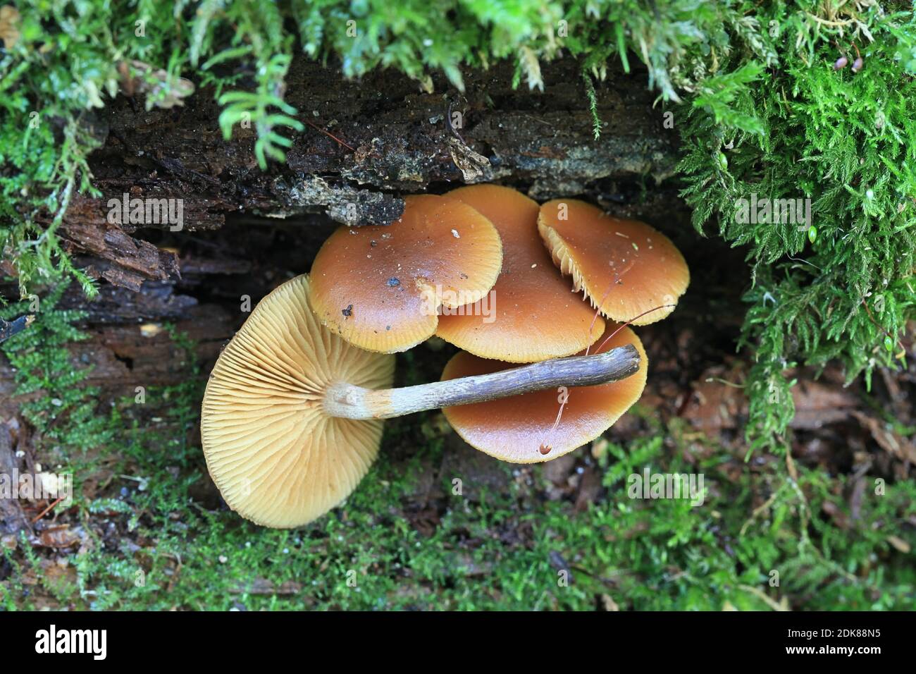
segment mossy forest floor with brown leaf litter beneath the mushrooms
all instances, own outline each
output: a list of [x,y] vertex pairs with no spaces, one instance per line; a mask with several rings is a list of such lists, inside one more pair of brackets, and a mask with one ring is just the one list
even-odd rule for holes
[[[747,271],[739,254],[687,255],[691,293],[638,329],[647,391],[604,438],[514,466],[442,414],[393,420],[351,498],[299,530],[251,525],[220,498],[198,425],[213,349],[179,330],[158,338],[186,375],[142,405],[89,392],[40,436],[0,405],[0,465],[75,481],[70,507],[16,504],[28,525],[0,538],[0,610],[914,608],[916,358],[868,393],[800,370],[790,455],[749,453],[728,318]],[[432,341],[398,355],[398,384],[437,380],[452,353]],[[66,394],[27,398],[53,416]],[[702,475],[703,503],[631,498],[646,470]]]

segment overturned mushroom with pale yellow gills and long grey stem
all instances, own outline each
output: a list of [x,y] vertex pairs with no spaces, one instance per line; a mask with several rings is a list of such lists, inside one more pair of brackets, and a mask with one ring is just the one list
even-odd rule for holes
[[378,453],[382,419],[539,391],[616,381],[639,370],[637,348],[389,386],[394,357],[322,327],[309,277],[280,285],[220,354],[203,397],[207,468],[226,503],[257,524],[305,525],[353,492]]

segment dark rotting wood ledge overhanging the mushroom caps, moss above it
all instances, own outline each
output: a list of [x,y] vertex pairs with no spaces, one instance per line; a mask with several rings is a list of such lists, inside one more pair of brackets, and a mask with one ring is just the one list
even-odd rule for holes
[[[591,193],[613,200],[618,182],[671,174],[675,134],[653,110],[643,73],[599,89],[605,119],[592,137],[579,64],[544,69],[546,94],[511,87],[512,71],[469,73],[467,91],[443,82],[435,94],[393,72],[350,82],[332,68],[295,61],[287,99],[309,125],[295,135],[286,165],[256,167],[255,131],[237,127],[225,141],[213,91],[184,107],[146,111],[124,96],[93,120],[106,138],[90,165],[100,198],[75,199],[60,230],[71,250],[95,260],[90,271],[137,291],[144,280],[175,279],[175,256],[153,249],[138,230],[169,223],[120,222],[112,200],[181,200],[181,233],[219,229],[233,216],[290,219],[320,213],[346,224],[387,224],[403,193],[442,191],[450,183],[501,181],[532,197]],[[460,130],[459,130],[460,129]]]

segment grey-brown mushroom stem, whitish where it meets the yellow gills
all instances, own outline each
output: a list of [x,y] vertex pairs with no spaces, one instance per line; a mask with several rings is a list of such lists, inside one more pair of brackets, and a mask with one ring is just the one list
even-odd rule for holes
[[373,391],[341,381],[328,387],[323,404],[325,412],[345,419],[390,419],[555,386],[595,386],[626,379],[638,369],[638,351],[627,345],[592,356],[543,360],[512,370],[399,389]]

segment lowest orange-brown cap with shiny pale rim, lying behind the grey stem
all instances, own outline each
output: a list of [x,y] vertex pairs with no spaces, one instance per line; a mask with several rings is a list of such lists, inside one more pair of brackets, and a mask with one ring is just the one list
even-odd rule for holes
[[[598,344],[601,345],[618,327],[608,322]],[[649,359],[632,330],[622,328],[593,353],[604,353],[627,344],[634,345],[639,352],[639,370],[627,379],[598,386],[576,386],[566,391],[548,389],[488,403],[455,405],[443,408],[442,412],[465,442],[491,457],[511,463],[557,459],[604,433],[642,395]],[[510,367],[514,366],[462,351],[449,360],[442,380],[488,374]],[[560,423],[554,428],[564,396],[566,405]],[[549,447],[549,450],[544,453],[541,447]]]

